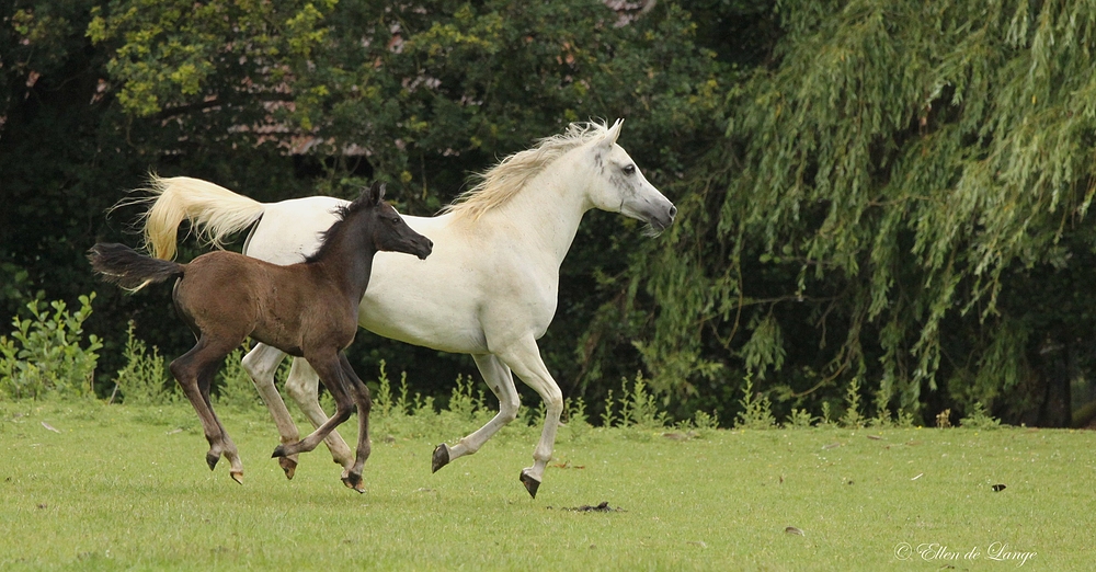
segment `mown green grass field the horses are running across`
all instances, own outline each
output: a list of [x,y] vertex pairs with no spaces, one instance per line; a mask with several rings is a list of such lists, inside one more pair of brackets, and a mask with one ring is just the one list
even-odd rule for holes
[[[507,427],[431,474],[433,446],[476,423],[378,419],[359,495],[343,488],[326,449],[301,456],[287,481],[269,458],[277,438],[266,414],[221,409],[243,457],[242,487],[225,461],[206,468],[185,403],[0,403],[0,569],[1017,568],[990,559],[1001,545],[1035,552],[1023,569],[1092,565],[1092,432],[806,428],[676,439],[566,427],[532,500],[517,476],[536,427]],[[603,501],[621,511],[566,510]],[[910,561],[895,557],[903,542]],[[957,559],[923,559],[916,547],[931,544]],[[977,558],[964,559],[972,549]]]

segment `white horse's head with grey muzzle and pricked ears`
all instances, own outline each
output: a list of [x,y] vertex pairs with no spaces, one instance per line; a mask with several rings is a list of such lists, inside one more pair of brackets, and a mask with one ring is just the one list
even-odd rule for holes
[[647,181],[623,147],[616,144],[624,119],[617,119],[605,136],[590,145],[594,180],[590,199],[595,207],[642,220],[655,232],[674,221],[677,207]]

